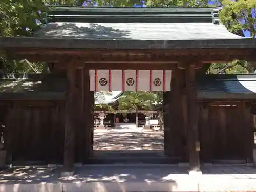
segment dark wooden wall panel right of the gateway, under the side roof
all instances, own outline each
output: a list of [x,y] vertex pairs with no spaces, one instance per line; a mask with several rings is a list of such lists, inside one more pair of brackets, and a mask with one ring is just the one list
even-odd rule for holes
[[252,114],[243,103],[210,106],[199,103],[200,157],[211,160],[252,161]]

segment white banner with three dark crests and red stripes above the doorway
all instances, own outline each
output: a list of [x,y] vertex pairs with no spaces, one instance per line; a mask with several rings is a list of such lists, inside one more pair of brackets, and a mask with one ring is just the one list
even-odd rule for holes
[[171,70],[90,70],[90,91],[170,91],[171,77]]

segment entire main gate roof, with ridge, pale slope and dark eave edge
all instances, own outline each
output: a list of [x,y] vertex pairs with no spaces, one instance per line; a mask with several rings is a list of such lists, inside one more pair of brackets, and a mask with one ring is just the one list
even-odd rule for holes
[[53,7],[31,37],[0,37],[0,49],[256,48],[230,33],[217,8]]

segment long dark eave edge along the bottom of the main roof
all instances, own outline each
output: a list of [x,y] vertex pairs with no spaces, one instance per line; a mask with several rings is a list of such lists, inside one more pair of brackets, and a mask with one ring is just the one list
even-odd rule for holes
[[0,37],[0,50],[12,48],[42,49],[249,49],[256,38],[198,40],[92,40],[36,37]]

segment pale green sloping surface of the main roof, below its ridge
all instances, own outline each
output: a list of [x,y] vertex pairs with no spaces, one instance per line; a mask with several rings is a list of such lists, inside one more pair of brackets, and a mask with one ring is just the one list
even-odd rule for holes
[[94,40],[237,39],[212,23],[50,23],[34,37]]

